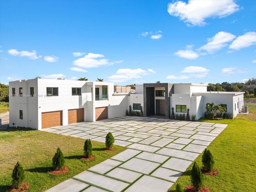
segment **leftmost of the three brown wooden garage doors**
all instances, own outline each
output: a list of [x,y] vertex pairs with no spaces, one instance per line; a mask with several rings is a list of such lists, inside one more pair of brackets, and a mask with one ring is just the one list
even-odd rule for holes
[[62,125],[62,111],[42,113],[42,129]]

